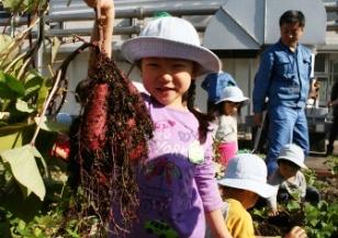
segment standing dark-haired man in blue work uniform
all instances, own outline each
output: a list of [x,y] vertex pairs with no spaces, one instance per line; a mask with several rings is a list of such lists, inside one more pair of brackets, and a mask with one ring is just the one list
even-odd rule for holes
[[301,11],[286,11],[280,18],[281,37],[261,55],[255,78],[254,113],[256,125],[262,123],[268,98],[269,149],[268,173],[277,168],[281,148],[294,143],[308,152],[305,104],[312,84],[312,53],[298,44],[304,33],[305,16]]

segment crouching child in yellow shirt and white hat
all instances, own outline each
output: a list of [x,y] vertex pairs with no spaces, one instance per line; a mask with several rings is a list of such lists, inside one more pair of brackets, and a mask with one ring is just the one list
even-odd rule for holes
[[[251,215],[247,212],[259,196],[269,197],[275,189],[267,183],[267,166],[252,154],[239,154],[229,160],[224,178],[218,180],[224,199],[225,225],[234,238],[254,238]],[[209,230],[205,238],[213,238]],[[285,238],[305,238],[301,227],[294,227]]]

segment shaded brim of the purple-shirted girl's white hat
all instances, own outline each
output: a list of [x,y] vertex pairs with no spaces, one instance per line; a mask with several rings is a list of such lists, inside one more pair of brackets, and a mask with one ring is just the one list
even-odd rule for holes
[[139,36],[127,39],[123,43],[121,52],[129,63],[144,57],[192,60],[200,65],[198,75],[218,72],[222,69],[219,58],[210,49],[161,37]]

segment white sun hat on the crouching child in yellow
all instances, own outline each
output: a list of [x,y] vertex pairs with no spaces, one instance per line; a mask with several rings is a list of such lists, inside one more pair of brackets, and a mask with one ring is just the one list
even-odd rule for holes
[[263,159],[252,154],[239,154],[229,160],[219,185],[248,190],[262,197],[275,193],[275,188],[267,183],[268,169]]

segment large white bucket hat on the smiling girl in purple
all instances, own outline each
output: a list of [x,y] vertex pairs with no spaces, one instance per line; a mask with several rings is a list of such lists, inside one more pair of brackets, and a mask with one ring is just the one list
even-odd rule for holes
[[138,37],[127,39],[122,45],[122,54],[129,63],[144,57],[181,58],[200,65],[199,75],[218,72],[219,58],[201,46],[194,26],[187,20],[165,16],[149,22]]

